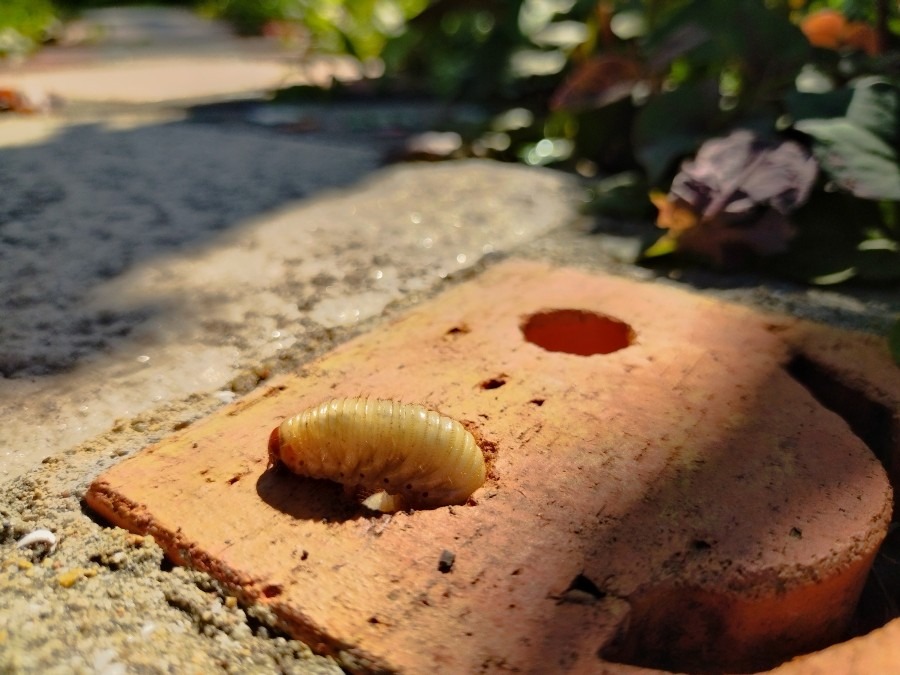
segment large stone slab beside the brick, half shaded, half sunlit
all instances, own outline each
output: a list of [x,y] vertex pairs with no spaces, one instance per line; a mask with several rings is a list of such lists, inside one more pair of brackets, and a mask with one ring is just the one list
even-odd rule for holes
[[[85,170],[60,154],[83,157]],[[298,163],[307,155],[317,159]],[[5,158],[0,175],[15,187],[0,195],[9,478],[154,406],[233,399],[259,379],[235,383],[242,372],[264,377],[266,360],[358,330],[574,217],[562,174],[474,161],[363,182],[371,148],[246,130],[73,129]],[[141,180],[123,183],[126,174]],[[333,190],[353,179],[353,190]]]

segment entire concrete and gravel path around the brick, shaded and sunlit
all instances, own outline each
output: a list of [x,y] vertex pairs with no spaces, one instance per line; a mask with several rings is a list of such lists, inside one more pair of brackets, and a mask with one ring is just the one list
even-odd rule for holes
[[[321,123],[285,133],[259,108],[194,108],[345,64],[176,10],[83,30],[100,37],[0,67],[0,88],[63,104],[0,119],[0,671],[333,672],[152,540],[95,522],[92,478],[499,258],[677,282],[628,262],[629,233],[590,234],[571,176],[385,168],[386,135],[358,124],[374,110],[311,110]],[[432,112],[384,114],[411,128]],[[900,311],[886,292],[669,276],[863,330]],[[16,547],[39,528],[52,554]]]

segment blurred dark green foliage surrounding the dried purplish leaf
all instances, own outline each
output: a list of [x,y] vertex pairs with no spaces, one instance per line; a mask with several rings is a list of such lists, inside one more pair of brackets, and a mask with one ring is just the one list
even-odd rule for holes
[[[56,13],[110,0],[4,0],[36,43]],[[313,51],[379,60],[382,94],[484,111],[466,152],[577,171],[598,219],[647,222],[704,143],[748,129],[791,140],[819,179],[759,264],[836,283],[900,282],[900,18],[888,0],[182,0],[242,33],[299,27]],[[277,32],[277,31],[274,31]],[[21,48],[21,40],[19,46]],[[736,189],[739,190],[740,186]],[[670,194],[669,199],[673,197]],[[683,207],[683,205],[680,205]],[[753,209],[749,210],[753,214]],[[662,215],[662,214],[661,214]],[[676,214],[677,215],[677,214]],[[684,214],[682,214],[684,215]],[[667,230],[645,252],[690,255]],[[664,226],[662,219],[660,226]],[[752,219],[740,227],[752,228]],[[656,242],[657,244],[659,242]],[[701,247],[693,253],[700,253]],[[719,256],[721,260],[730,259]]]

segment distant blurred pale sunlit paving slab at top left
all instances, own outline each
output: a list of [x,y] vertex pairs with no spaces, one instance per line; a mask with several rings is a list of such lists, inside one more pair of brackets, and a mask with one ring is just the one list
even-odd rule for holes
[[352,78],[357,70],[346,60],[305,58],[299,45],[238,38],[175,8],[94,10],[66,35],[61,45],[0,65],[0,87],[62,103],[198,102]]

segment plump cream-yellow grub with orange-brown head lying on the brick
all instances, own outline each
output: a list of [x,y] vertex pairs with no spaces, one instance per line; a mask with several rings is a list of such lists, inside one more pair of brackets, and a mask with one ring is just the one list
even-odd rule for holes
[[286,419],[269,464],[348,492],[385,492],[383,511],[464,504],[484,483],[484,455],[459,422],[421,405],[335,398]]

